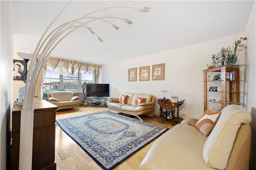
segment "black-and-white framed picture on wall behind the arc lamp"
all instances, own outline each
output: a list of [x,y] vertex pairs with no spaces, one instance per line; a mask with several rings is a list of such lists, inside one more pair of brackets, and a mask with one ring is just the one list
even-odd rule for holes
[[13,80],[22,80],[26,74],[26,62],[22,60],[13,60]]

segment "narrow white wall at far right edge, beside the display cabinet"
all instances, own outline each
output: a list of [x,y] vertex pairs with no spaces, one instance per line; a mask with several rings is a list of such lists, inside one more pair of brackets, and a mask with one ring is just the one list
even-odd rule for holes
[[246,81],[245,81],[245,109],[252,114],[252,145],[251,145],[251,160],[250,169],[256,169],[256,39],[255,39],[255,20],[256,20],[255,4],[252,10],[250,20],[246,29],[248,37],[248,50],[246,55]]

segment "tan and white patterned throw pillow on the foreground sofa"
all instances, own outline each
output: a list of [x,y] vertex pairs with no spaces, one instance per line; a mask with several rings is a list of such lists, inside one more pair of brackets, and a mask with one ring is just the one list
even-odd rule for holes
[[200,130],[204,136],[208,136],[217,123],[220,113],[221,112],[213,112],[210,110],[205,111],[202,117],[196,123],[196,128],[198,128],[198,130]]

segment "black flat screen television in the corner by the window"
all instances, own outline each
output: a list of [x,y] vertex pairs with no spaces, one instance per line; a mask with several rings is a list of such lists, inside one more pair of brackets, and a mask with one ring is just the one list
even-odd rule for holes
[[87,97],[109,97],[109,84],[86,84]]

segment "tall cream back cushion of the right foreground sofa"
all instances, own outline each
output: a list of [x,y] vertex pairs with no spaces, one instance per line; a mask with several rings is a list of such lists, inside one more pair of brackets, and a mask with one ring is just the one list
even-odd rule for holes
[[228,105],[221,112],[218,122],[204,143],[203,158],[208,166],[223,170],[227,167],[239,127],[242,123],[249,124],[252,118],[239,105]]

